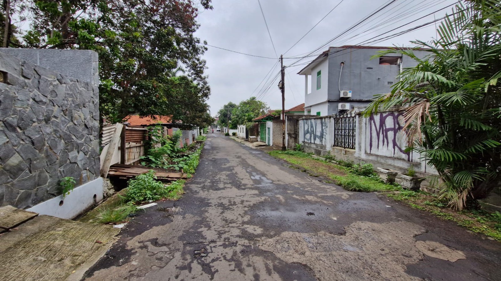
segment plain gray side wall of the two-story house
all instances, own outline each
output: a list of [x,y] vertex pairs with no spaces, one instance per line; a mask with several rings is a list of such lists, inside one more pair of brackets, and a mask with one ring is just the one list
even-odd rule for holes
[[[340,48],[331,47],[329,50],[329,77],[328,77],[328,115],[338,113],[338,103],[347,102],[350,106],[367,105],[375,94],[389,93],[391,86],[397,82],[396,76],[400,71],[399,65],[380,65],[379,59],[371,56],[384,48]],[[428,54],[424,50],[415,50],[414,54],[424,57]],[[402,67],[413,67],[414,60],[400,54],[386,56],[401,57]],[[341,72],[341,62],[344,62]],[[339,76],[341,73],[341,81]],[[389,82],[391,84],[389,84]],[[352,97],[340,99],[341,90],[351,90]],[[312,112],[313,113],[313,112]]]

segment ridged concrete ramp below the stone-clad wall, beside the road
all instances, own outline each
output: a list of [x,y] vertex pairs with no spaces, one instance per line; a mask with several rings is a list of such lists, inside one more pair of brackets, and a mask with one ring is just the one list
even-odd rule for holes
[[0,281],[80,280],[79,268],[102,257],[119,232],[111,225],[35,217],[0,235]]

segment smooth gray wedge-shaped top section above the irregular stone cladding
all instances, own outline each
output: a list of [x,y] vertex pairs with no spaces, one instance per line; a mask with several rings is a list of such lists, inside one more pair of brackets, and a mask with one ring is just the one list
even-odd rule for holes
[[0,48],[0,52],[99,86],[99,62],[95,51]]

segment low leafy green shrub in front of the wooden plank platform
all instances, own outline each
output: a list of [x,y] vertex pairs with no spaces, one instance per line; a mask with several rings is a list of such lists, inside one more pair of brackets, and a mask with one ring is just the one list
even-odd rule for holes
[[170,191],[168,186],[156,181],[155,172],[150,170],[146,174],[136,176],[130,180],[125,192],[126,202],[156,201],[166,197]]

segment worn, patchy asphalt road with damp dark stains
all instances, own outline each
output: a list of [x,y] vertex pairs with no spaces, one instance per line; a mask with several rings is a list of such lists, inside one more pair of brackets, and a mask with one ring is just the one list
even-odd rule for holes
[[84,280],[501,280],[498,242],[220,133],[185,191],[136,217]]

